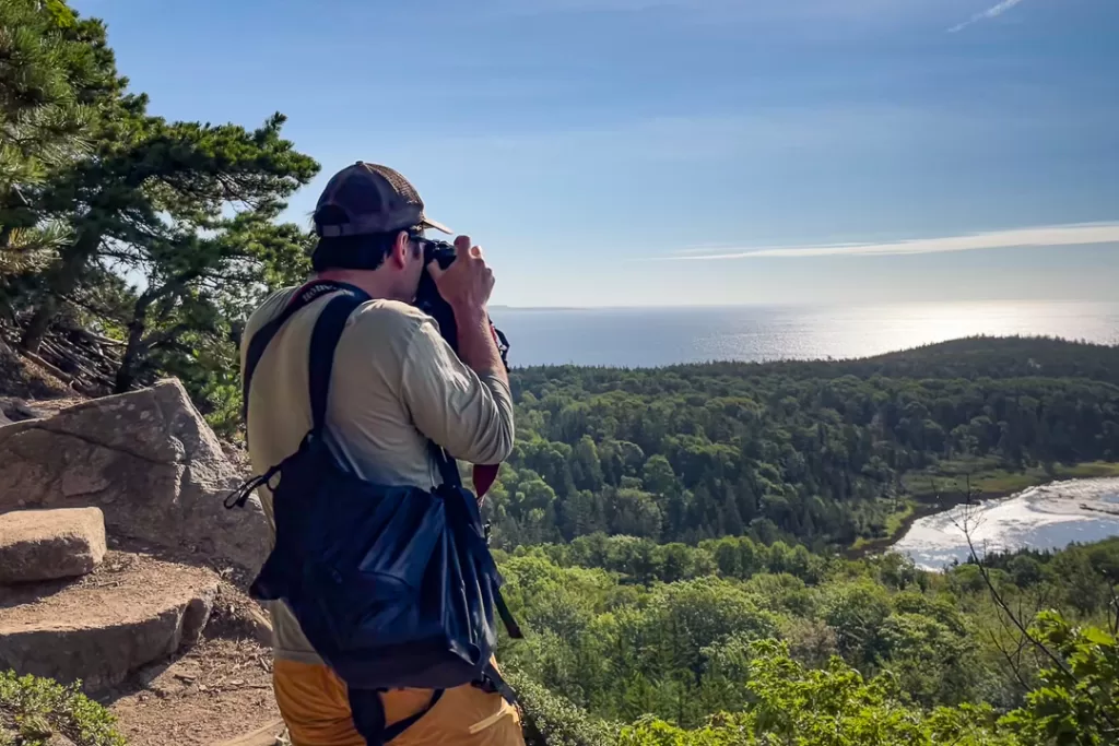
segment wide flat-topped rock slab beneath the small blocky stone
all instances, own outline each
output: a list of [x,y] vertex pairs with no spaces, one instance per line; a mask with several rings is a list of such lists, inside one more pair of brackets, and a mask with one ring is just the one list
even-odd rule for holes
[[217,589],[210,570],[121,553],[60,589],[9,589],[0,597],[0,670],[82,680],[86,691],[117,684],[196,642]]

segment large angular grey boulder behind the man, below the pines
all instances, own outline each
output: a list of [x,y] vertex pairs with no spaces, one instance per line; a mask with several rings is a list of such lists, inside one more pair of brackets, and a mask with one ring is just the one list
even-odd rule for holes
[[173,379],[0,427],[0,512],[97,507],[111,536],[252,570],[267,550],[260,502],[223,504],[243,478]]

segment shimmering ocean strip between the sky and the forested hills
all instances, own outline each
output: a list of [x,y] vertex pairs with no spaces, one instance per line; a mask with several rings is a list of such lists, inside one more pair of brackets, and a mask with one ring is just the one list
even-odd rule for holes
[[670,309],[495,308],[509,365],[647,368],[862,358],[975,334],[1119,343],[1119,303],[984,301]]

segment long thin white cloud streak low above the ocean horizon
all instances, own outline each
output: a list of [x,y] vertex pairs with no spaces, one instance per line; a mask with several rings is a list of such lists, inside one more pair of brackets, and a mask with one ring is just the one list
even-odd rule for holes
[[723,253],[687,253],[661,257],[667,261],[695,262],[700,259],[755,259],[809,258],[816,256],[899,256],[911,254],[939,254],[943,252],[974,252],[986,248],[1025,246],[1080,246],[1088,244],[1119,243],[1119,221],[1075,225],[1038,226],[975,233],[940,238],[911,238],[877,244],[827,244],[822,246],[764,246],[741,248]]

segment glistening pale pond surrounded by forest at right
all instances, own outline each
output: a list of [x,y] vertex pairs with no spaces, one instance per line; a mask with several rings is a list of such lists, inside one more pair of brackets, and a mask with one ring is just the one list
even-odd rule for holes
[[968,558],[967,526],[980,556],[1032,547],[1061,549],[1119,536],[1119,478],[1070,480],[914,521],[891,547],[925,569]]

